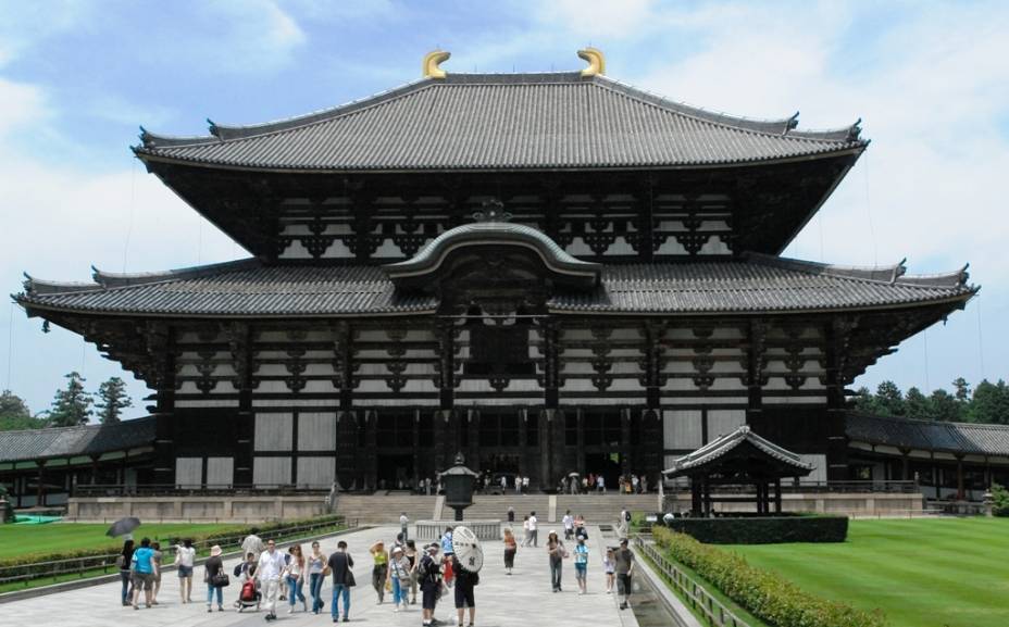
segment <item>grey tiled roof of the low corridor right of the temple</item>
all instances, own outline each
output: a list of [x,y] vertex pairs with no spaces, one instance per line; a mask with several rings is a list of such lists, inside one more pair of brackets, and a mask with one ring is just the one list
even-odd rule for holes
[[898,449],[1009,455],[1009,426],[938,423],[849,413],[849,440]]

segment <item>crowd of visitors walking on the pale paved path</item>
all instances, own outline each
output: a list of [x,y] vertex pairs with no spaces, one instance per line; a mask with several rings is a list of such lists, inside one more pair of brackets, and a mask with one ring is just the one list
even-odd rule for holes
[[[623,522],[626,512],[621,512]],[[536,512],[530,512],[523,522],[523,537],[515,536],[513,523],[514,509],[509,507],[508,525],[503,529],[505,574],[514,573],[515,560],[520,547],[538,548],[538,519]],[[476,617],[475,587],[479,584],[479,574],[463,568],[453,551],[452,527],[436,542],[418,548],[416,542],[408,538],[409,521],[402,514],[400,532],[386,548],[385,541],[376,541],[369,548],[372,557],[371,584],[375,591],[375,602],[381,605],[386,594],[391,595],[393,611],[406,612],[410,605],[418,603],[421,597],[421,619],[424,626],[439,623],[435,610],[441,598],[453,592],[456,618],[458,625],[474,625]],[[546,551],[550,567],[550,582],[553,592],[562,592],[564,561],[574,557],[575,580],[578,594],[588,592],[588,570],[590,564],[588,532],[581,515],[572,515],[569,510],[562,518],[563,539],[555,530],[547,535]],[[573,542],[569,550],[566,542]],[[191,603],[192,576],[196,548],[191,540],[184,540],[173,547],[175,567],[179,581],[179,599]],[[348,551],[346,541],[337,542],[336,551],[329,555],[322,552],[317,541],[311,543],[311,552],[304,554],[300,544],[281,551],[275,540],[265,542],[256,529],[241,542],[239,562],[232,575],[236,579],[238,598],[234,606],[239,612],[254,607],[265,610],[267,622],[276,619],[277,604],[286,600],[288,613],[299,610],[323,613],[326,600],[323,598],[323,585],[332,579],[329,598],[329,616],[334,623],[349,622],[350,588],[357,585],[354,579],[354,560]],[[124,606],[139,610],[142,593],[145,605],[158,604],[163,553],[158,542],[142,538],[139,544],[128,539],[123,544],[116,565],[122,578],[121,600]],[[634,553],[627,548],[627,539],[620,540],[619,547],[608,547],[601,557],[602,573],[606,577],[606,593],[614,591],[620,595],[620,607],[626,609],[631,597],[631,578],[634,573]],[[224,569],[222,549],[214,546],[203,564],[203,582],[207,587],[207,611],[224,611],[224,588],[231,585],[231,577]],[[308,584],[308,597],[304,585]],[[466,618],[469,622],[466,623]]]

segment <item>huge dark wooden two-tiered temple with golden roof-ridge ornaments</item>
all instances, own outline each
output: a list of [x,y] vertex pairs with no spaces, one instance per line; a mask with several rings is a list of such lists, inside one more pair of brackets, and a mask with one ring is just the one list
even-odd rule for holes
[[655,485],[742,425],[847,479],[845,387],[975,292],[780,256],[858,125],[687,106],[593,50],[570,73],[445,58],[301,117],[142,133],[147,168],[249,259],[27,280],[29,315],[155,390],[140,480],[372,489],[463,451],[534,487]]

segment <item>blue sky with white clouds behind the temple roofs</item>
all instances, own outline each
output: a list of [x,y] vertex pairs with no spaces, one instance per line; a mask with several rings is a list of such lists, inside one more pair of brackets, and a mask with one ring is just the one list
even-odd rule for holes
[[[145,173],[137,127],[203,134],[333,106],[449,72],[607,73],[669,98],[873,140],[786,254],[843,264],[971,263],[982,296],[858,381],[949,387],[1009,376],[1009,4],[0,0],[0,281],[85,280],[244,256]],[[0,308],[0,387],[46,409],[62,375],[117,374],[92,346]],[[12,367],[9,369],[8,359]],[[148,390],[132,376],[130,392]]]

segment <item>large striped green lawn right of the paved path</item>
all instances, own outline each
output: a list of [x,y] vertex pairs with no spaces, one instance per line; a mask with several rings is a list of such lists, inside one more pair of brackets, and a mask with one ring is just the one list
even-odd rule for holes
[[852,521],[836,544],[727,546],[893,627],[1009,625],[1009,519]]

